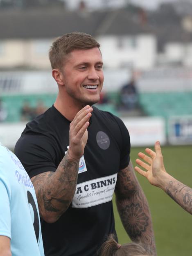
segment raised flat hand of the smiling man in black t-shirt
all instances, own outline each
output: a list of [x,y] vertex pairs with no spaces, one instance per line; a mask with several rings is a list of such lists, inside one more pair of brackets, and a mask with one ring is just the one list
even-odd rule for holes
[[93,108],[87,105],[75,115],[75,118],[70,123],[68,149],[68,156],[70,158],[79,160],[84,154],[84,148],[88,139],[87,128],[92,111]]

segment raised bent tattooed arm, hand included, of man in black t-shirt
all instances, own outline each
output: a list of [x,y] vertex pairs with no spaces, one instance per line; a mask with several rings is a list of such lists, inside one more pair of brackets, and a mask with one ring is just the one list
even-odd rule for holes
[[87,143],[88,120],[92,111],[92,107],[84,107],[70,123],[69,149],[56,171],[47,171],[31,179],[40,215],[46,222],[55,222],[70,206],[77,185],[79,160]]

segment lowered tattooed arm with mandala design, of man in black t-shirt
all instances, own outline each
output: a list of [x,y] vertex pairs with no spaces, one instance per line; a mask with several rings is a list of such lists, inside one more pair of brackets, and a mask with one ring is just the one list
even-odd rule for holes
[[149,206],[131,162],[128,167],[119,171],[115,194],[122,224],[131,240],[142,242],[156,255]]

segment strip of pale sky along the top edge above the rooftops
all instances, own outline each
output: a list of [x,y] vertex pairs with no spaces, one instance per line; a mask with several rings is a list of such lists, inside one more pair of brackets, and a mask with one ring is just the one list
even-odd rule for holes
[[[103,3],[106,3],[113,7],[120,7],[124,5],[126,2],[132,2],[135,5],[141,5],[142,7],[148,8],[148,9],[156,9],[158,5],[162,2],[176,2],[177,0],[84,0],[84,2],[87,4],[90,8],[99,8],[102,6]],[[181,1],[181,0],[180,0]],[[65,0],[68,7],[71,9],[77,7],[80,0]]]

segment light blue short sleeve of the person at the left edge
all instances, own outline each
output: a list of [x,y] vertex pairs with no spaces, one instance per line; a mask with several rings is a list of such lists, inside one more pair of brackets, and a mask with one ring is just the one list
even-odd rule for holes
[[11,213],[8,188],[0,178],[0,235],[5,235],[11,239]]

